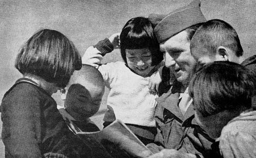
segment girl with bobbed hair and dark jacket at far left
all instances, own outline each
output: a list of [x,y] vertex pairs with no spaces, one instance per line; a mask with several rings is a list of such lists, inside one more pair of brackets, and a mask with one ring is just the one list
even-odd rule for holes
[[5,157],[92,157],[68,129],[51,97],[66,87],[81,57],[54,30],[40,30],[19,50],[15,67],[23,74],[1,104]]

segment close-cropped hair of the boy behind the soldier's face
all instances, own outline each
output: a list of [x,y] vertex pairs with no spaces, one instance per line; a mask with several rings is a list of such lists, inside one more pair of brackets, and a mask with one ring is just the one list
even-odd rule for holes
[[219,46],[231,49],[237,57],[243,55],[238,34],[231,25],[220,19],[212,19],[197,30],[190,43],[190,51],[199,49],[200,53],[213,57]]

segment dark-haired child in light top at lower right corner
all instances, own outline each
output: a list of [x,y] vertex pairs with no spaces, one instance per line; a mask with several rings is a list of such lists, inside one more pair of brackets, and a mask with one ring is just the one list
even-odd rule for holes
[[256,111],[251,107],[255,83],[254,74],[240,64],[214,62],[189,84],[198,125],[217,139],[223,157],[256,156]]

